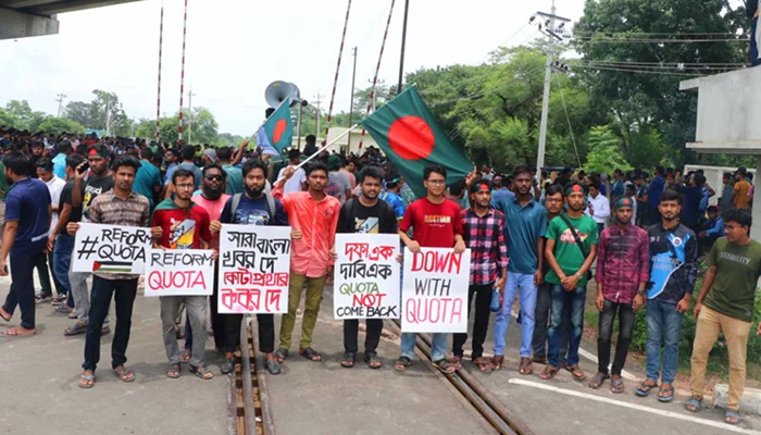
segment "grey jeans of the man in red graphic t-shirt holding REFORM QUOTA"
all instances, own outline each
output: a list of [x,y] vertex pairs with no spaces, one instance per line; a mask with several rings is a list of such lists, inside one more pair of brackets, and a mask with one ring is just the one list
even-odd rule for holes
[[[174,328],[174,318],[179,310],[179,303],[185,302],[188,322],[192,325],[190,335],[196,346],[190,343],[192,349],[190,365],[205,366],[203,355],[207,345],[207,297],[205,296],[162,296],[161,298],[161,328],[164,336],[164,349],[170,364],[179,364],[179,346],[177,346],[177,333]],[[116,323],[118,326],[118,321]],[[192,338],[190,338],[192,337]]]

